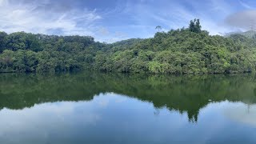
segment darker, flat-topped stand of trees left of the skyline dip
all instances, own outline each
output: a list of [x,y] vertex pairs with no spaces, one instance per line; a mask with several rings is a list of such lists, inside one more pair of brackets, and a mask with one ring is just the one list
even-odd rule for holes
[[0,72],[89,70],[103,47],[91,37],[1,32]]

